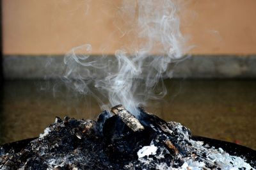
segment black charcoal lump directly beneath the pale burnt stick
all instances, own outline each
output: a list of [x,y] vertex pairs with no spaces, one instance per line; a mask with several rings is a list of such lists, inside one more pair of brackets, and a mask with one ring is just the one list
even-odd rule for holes
[[150,128],[134,132],[117,115],[106,120],[103,135],[108,155],[113,158],[136,157],[136,151],[140,150],[142,146],[150,144],[154,138],[154,132]]

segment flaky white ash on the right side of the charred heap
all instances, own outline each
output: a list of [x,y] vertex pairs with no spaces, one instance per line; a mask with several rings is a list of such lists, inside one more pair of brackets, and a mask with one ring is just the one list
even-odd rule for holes
[[[170,123],[172,123],[172,125],[174,123],[176,125],[176,128],[179,130],[179,134],[183,134],[182,141],[186,141],[187,143],[191,144],[191,146],[188,147],[188,150],[191,149],[196,151],[195,156],[189,155],[189,157],[184,157],[179,153],[177,157],[180,157],[184,161],[184,164],[182,164],[182,166],[177,169],[209,169],[207,168],[207,166],[205,166],[205,164],[217,166],[220,169],[254,169],[252,166],[250,166],[250,164],[245,162],[243,158],[229,155],[227,152],[223,151],[222,148],[209,147],[209,145],[207,144],[204,146],[203,141],[193,141],[192,139],[189,139],[189,134],[182,130],[183,126],[180,123]],[[154,153],[151,155],[151,157],[139,157],[141,163],[150,164],[151,161],[154,161],[154,158],[152,157],[161,158],[161,155],[163,157],[163,148],[157,148],[155,150],[159,150],[161,152],[158,154]],[[205,155],[206,157],[204,157],[203,155]],[[200,161],[196,160],[196,158],[198,157],[200,157]],[[156,169],[175,168],[161,162],[160,164],[157,164]]]

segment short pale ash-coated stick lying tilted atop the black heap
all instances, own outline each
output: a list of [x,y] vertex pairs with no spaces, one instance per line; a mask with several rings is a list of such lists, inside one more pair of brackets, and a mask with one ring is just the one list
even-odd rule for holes
[[115,113],[119,118],[124,121],[124,123],[133,130],[133,132],[137,132],[140,130],[144,130],[143,125],[141,125],[140,121],[135,118],[131,114],[131,112],[127,111],[123,105],[116,105],[112,107],[111,111]]

